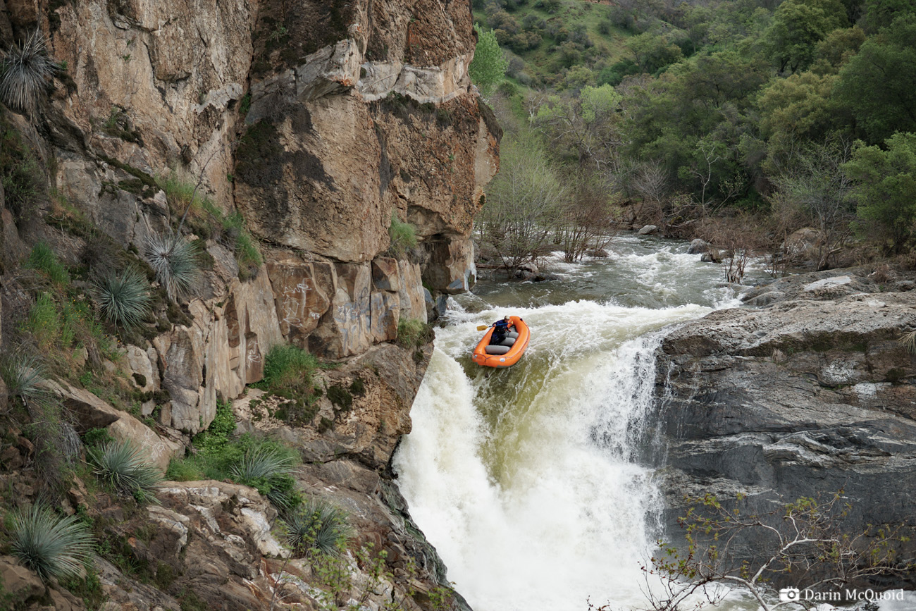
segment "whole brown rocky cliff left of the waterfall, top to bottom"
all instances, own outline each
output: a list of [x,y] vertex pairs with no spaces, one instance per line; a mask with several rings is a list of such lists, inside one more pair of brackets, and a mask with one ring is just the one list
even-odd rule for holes
[[[4,48],[35,28],[62,69],[37,113],[5,111],[5,121],[47,168],[52,196],[11,213],[0,192],[5,269],[39,240],[73,267],[100,245],[145,265],[150,238],[180,226],[207,264],[190,297],[163,305],[155,329],[131,335],[110,364],[143,394],[147,419],[85,388],[53,385],[80,415],[77,429],[107,427],[165,465],[210,425],[218,399],[238,398],[262,379],[271,347],[294,344],[343,361],[327,383],[365,381],[354,409],[342,414],[325,398],[313,420],[290,427],[254,418],[245,398],[235,406],[241,428],[299,444],[314,463],[302,484],[341,496],[362,516],[362,539],[390,551],[398,579],[408,579],[410,557],[420,567],[411,588],[446,584],[387,463],[409,431],[431,354],[429,345],[392,344],[398,322],[427,322],[446,295],[474,283],[472,221],[498,164],[501,132],[467,74],[475,43],[469,3],[0,1]],[[165,180],[196,186],[212,209],[195,204],[181,225],[187,202],[161,190]],[[239,215],[263,263],[234,253],[238,224],[216,226]],[[416,247],[391,248],[393,219],[412,225]],[[0,282],[0,308],[21,315],[27,290],[9,273]],[[23,450],[14,469],[27,471],[28,460]],[[27,481],[25,471],[9,476]],[[237,521],[245,513],[244,502],[226,498],[253,498],[220,486],[204,486],[215,490],[209,500],[169,488],[164,508],[142,519],[170,524],[178,542],[135,555],[169,564],[191,580],[181,587],[196,587],[192,562],[175,554],[193,549],[182,537],[209,541],[204,547],[232,560],[202,566],[206,580],[237,586],[220,608],[267,608],[265,592],[278,584],[262,558],[276,550],[219,518],[213,527],[211,514]],[[116,575],[110,581],[119,604],[177,608],[168,593],[162,602],[125,594],[144,590],[117,585]],[[308,588],[287,594],[311,608]],[[213,590],[210,600],[219,599]]]

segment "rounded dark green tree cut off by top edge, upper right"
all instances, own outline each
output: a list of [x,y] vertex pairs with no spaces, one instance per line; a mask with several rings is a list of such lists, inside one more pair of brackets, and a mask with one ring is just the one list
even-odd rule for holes
[[847,25],[840,0],[786,0],[776,9],[767,30],[771,57],[780,72],[804,70],[812,62],[817,43]]

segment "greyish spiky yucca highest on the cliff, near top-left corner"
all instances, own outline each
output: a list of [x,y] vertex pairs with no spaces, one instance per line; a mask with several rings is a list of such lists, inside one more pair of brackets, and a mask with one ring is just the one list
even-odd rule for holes
[[41,89],[57,67],[48,57],[44,35],[35,30],[6,52],[0,64],[0,100],[10,108],[34,114]]

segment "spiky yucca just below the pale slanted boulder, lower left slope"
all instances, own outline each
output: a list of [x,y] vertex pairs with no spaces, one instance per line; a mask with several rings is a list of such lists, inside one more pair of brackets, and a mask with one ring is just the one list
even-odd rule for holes
[[156,490],[162,474],[130,442],[106,442],[87,450],[93,472],[119,494],[133,496],[145,505],[158,503]]

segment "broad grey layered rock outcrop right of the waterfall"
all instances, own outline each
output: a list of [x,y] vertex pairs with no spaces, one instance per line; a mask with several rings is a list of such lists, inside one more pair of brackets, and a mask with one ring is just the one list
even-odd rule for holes
[[[844,490],[851,532],[916,530],[916,356],[898,341],[916,327],[916,303],[878,290],[863,270],[787,278],[746,296],[769,295],[765,309],[715,311],[668,333],[657,385],[671,523],[683,494],[742,493],[768,513]],[[747,541],[748,556],[759,543]]]

